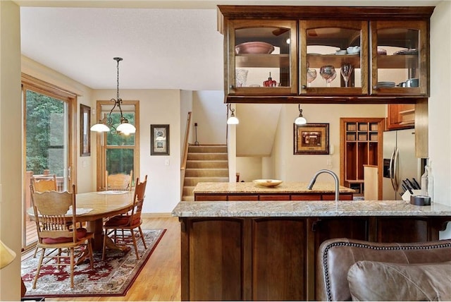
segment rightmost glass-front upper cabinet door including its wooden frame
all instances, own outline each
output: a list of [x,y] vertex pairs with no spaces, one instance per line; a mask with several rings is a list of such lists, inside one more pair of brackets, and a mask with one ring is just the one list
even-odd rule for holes
[[371,95],[428,95],[424,21],[371,21]]

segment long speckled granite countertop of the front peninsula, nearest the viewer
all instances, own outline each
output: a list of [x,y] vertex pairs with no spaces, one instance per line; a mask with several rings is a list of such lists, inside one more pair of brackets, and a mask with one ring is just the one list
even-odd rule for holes
[[411,205],[403,200],[314,201],[182,201],[177,217],[340,217],[340,216],[451,216],[440,203]]

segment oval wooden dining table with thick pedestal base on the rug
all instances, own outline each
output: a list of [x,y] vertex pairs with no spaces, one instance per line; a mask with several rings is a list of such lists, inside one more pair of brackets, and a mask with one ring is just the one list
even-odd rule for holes
[[[133,195],[133,191],[99,191],[75,195],[77,222],[87,222],[87,230],[94,233],[94,241],[92,242],[94,250],[101,250],[103,247],[104,218],[124,214],[131,210]],[[30,217],[35,217],[32,207],[27,209],[27,214]],[[114,245],[111,239],[108,240],[107,246],[125,249],[123,246]]]

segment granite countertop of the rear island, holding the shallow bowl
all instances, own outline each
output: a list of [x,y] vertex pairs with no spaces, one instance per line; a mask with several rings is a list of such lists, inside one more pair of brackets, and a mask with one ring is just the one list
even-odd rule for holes
[[[302,182],[283,182],[276,187],[259,186],[251,181],[249,182],[233,182],[233,183],[197,183],[194,187],[194,194],[234,194],[234,193],[335,193],[334,183],[316,182],[311,190],[307,189],[309,183]],[[355,193],[351,188],[340,186],[340,193]]]

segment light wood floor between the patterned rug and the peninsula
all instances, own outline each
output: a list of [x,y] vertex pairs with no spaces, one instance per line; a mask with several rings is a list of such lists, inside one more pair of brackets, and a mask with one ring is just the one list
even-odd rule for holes
[[142,229],[166,229],[126,296],[46,298],[46,301],[180,301],[178,217],[143,218]]

